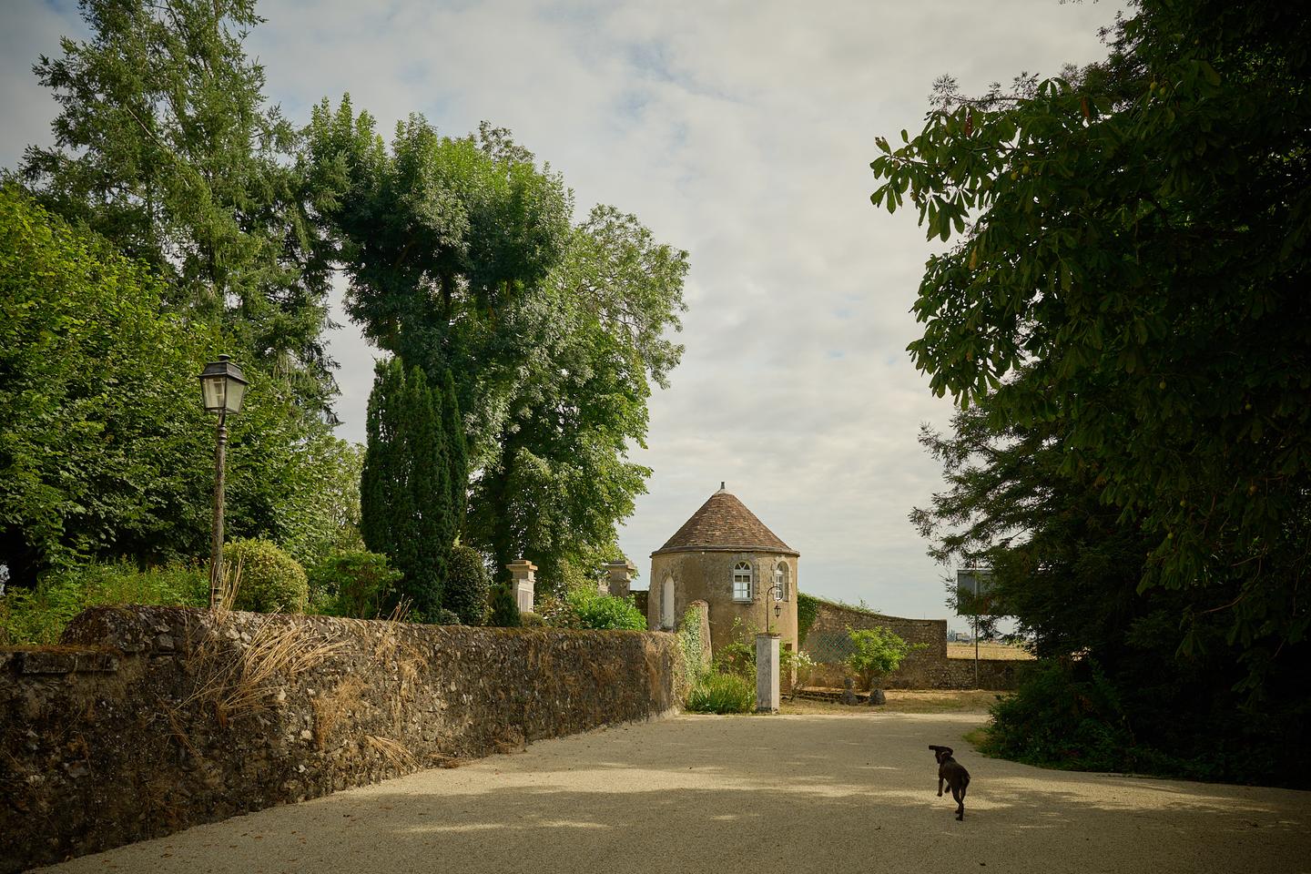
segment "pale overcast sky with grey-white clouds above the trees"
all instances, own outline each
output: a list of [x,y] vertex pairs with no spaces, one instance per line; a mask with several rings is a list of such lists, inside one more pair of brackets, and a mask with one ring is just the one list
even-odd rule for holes
[[[298,124],[343,92],[384,131],[410,111],[451,135],[486,119],[564,173],[579,218],[611,203],[691,254],[687,351],[652,398],[633,459],[654,474],[620,535],[642,580],[725,481],[801,552],[804,591],[935,618],[944,569],[906,516],[943,485],[919,426],[952,410],[905,351],[929,246],[910,212],[871,206],[874,136],[918,130],[941,73],[982,90],[1104,56],[1117,8],[267,0],[248,51]],[[14,166],[56,109],[31,63],[85,30],[71,0],[3,0],[0,16],[0,164]],[[376,352],[350,324],[332,351],[340,434],[363,440]]]

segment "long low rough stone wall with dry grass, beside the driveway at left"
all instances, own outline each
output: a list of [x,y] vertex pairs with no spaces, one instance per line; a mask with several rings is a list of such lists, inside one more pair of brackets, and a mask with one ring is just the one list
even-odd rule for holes
[[678,704],[676,638],[97,608],[0,651],[0,871]]

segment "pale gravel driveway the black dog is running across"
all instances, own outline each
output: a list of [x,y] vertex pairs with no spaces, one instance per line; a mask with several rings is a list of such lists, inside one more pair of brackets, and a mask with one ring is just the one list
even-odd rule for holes
[[[1311,793],[983,759],[983,714],[680,715],[50,871],[1311,871]],[[936,797],[929,743],[973,782]]]

